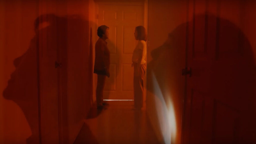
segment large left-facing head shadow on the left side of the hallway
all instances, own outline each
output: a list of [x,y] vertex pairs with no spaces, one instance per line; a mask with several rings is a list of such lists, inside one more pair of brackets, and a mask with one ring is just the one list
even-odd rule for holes
[[[27,143],[39,143],[42,134],[46,137],[47,133],[52,137],[58,137],[60,86],[62,94],[66,93],[61,98],[64,130],[68,130],[68,124],[76,124],[84,119],[84,113],[89,111],[92,101],[92,82],[90,82],[92,81],[92,56],[90,56],[89,45],[83,43],[89,40],[82,39],[84,35],[89,36],[85,33],[88,24],[88,21],[79,16],[41,15],[35,20],[36,34],[28,50],[14,60],[16,69],[3,91],[3,97],[14,101],[24,112],[32,132]],[[77,59],[77,53],[83,53],[84,57]],[[58,64],[60,61],[61,71]],[[73,87],[67,84],[68,76],[69,82],[74,84]],[[79,81],[79,78],[82,80]],[[78,80],[77,84],[76,80]],[[68,102],[70,100],[76,102],[76,99],[69,98],[68,101],[67,88],[69,91],[82,91],[82,94],[76,94],[76,98],[84,102],[84,109],[78,109],[71,115],[68,109],[73,106]],[[76,119],[70,119],[70,117]]]

